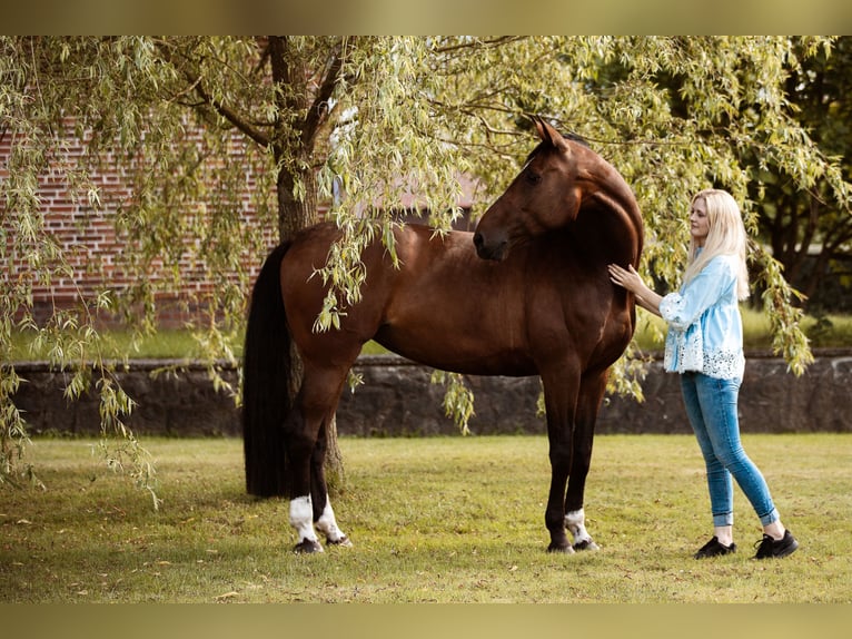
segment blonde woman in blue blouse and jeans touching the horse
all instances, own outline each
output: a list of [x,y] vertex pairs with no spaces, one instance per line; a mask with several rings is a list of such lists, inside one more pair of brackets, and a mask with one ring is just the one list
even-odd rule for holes
[[739,302],[749,296],[746,235],[740,207],[724,190],[696,194],[690,206],[690,254],[683,285],[661,296],[631,266],[610,265],[610,277],[643,308],[668,324],[664,367],[681,374],[686,414],[707,469],[713,538],[696,559],[736,551],[733,481],[763,525],[756,559],[786,557],[799,548],[784,528],[766,481],[740,441],[736,402],[745,367]]

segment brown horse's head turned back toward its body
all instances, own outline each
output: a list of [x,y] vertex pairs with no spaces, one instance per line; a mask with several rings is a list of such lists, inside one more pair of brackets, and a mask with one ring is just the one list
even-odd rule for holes
[[597,157],[584,145],[564,138],[535,119],[541,144],[476,225],[474,244],[484,259],[502,260],[518,242],[561,228],[576,219],[588,174],[585,163]]

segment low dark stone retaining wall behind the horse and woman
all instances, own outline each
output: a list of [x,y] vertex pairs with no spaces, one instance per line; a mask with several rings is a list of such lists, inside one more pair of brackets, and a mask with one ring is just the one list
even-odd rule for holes
[[[749,354],[740,396],[743,432],[851,432],[852,351],[816,352],[815,363],[802,377],[786,364],[765,354]],[[174,372],[155,374],[165,366]],[[99,432],[97,397],[68,402],[62,391],[67,376],[39,363],[18,364],[27,380],[16,395],[33,433]],[[443,389],[429,383],[432,370],[396,356],[365,356],[355,372],[365,384],[344,392],[337,413],[338,432],[359,436],[419,436],[456,434],[444,416]],[[240,434],[234,400],[216,392],[206,370],[197,364],[136,361],[118,374],[138,403],[128,425],[140,434],[171,436]],[[224,377],[235,387],[237,373]],[[536,415],[538,377],[468,377],[476,395],[477,434],[544,433]],[[610,397],[601,409],[597,433],[688,433],[677,375],[650,365],[644,383],[645,402]]]

